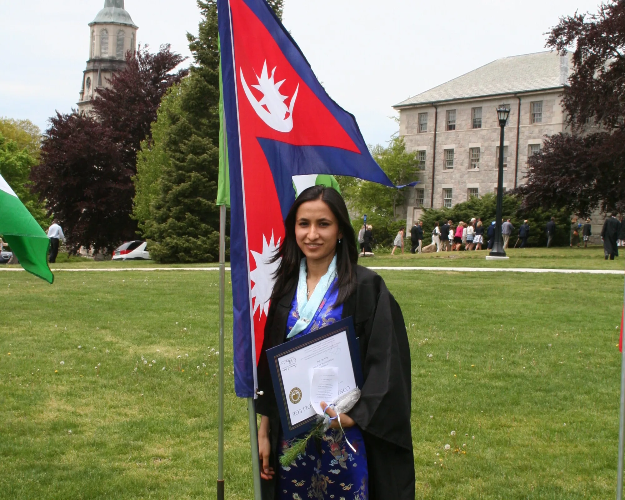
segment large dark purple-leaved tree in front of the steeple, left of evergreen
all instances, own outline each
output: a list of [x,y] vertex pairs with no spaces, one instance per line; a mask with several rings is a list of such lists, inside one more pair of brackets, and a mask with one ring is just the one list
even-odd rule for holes
[[112,249],[136,237],[131,218],[136,153],[167,89],[186,76],[169,45],[156,54],[139,47],[127,67],[99,89],[93,116],[76,112],[50,119],[41,163],[31,171],[34,189],[58,217],[69,247]]

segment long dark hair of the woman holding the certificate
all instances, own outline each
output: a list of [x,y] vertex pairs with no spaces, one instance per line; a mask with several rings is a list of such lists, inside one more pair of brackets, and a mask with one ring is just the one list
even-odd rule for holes
[[276,269],[276,283],[271,294],[271,300],[279,300],[287,291],[296,286],[299,279],[299,262],[304,253],[297,246],[295,239],[295,222],[297,209],[302,203],[320,199],[323,201],[336,217],[339,223],[339,232],[342,234],[341,241],[336,244],[336,272],[337,284],[339,286],[339,296],[337,304],[346,301],[356,287],[356,276],[354,266],[358,261],[358,248],[356,246],[356,234],[349,221],[349,213],[345,206],[345,201],[341,195],[332,187],[311,186],[304,189],[297,196],[292,204],[289,213],[284,221],[284,241],[280,249],[272,257],[272,262],[280,260]]

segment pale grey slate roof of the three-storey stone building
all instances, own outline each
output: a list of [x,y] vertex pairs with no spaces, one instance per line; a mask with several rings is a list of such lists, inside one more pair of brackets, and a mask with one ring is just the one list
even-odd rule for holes
[[555,51],[496,59],[393,108],[562,88],[572,69],[570,59],[571,53],[559,56]]

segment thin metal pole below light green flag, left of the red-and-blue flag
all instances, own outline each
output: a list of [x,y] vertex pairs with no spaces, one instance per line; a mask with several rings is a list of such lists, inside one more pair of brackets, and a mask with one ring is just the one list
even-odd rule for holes
[[224,500],[224,334],[226,317],[226,205],[219,206],[219,407],[217,414],[217,500]]

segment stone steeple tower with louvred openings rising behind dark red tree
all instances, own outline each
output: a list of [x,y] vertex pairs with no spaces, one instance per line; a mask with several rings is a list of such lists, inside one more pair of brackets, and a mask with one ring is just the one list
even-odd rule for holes
[[83,72],[79,111],[91,109],[91,99],[107,78],[126,67],[126,53],[134,52],[138,26],[124,9],[124,0],[105,0],[104,8],[89,22],[89,59]]

